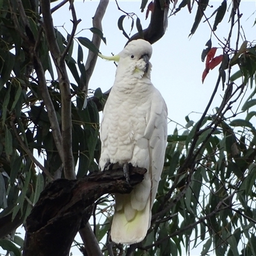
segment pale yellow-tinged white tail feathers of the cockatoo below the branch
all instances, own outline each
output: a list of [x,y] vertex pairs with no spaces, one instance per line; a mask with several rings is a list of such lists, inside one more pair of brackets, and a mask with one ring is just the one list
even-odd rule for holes
[[150,197],[142,211],[136,211],[132,220],[125,218],[124,207],[116,209],[112,227],[111,239],[115,243],[134,244],[141,242],[147,235],[151,220]]

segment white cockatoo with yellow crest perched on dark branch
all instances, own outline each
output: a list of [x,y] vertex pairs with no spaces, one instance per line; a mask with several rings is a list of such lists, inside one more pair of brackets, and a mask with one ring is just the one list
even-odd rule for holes
[[118,61],[115,83],[104,107],[100,127],[100,168],[114,166],[147,169],[130,194],[115,195],[111,239],[139,243],[150,227],[151,209],[163,170],[167,138],[167,108],[150,81],[152,46],[145,40],[129,42],[107,60]]

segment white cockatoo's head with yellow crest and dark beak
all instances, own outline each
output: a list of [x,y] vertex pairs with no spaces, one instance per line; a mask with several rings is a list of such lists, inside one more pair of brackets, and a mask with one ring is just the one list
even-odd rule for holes
[[152,46],[149,42],[138,39],[129,42],[119,54],[107,57],[99,54],[105,60],[113,60],[118,62],[118,69],[124,72],[131,72],[138,77],[143,77],[151,69],[149,62],[152,56]]

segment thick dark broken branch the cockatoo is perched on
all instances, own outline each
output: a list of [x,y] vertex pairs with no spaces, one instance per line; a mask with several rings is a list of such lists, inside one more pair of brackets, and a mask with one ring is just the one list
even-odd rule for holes
[[[130,184],[122,168],[95,172],[80,180],[51,182],[27,218],[23,255],[68,256],[77,231],[90,218],[95,200],[108,193],[130,193],[145,172],[145,168],[131,166]],[[99,254],[94,251],[90,255]]]

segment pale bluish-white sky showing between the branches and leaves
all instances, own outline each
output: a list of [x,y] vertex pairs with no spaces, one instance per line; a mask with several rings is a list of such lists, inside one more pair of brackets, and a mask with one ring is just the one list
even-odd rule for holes
[[[61,1],[54,3],[58,4]],[[179,1],[180,2],[180,1]],[[178,4],[179,4],[178,2]],[[141,1],[118,1],[119,6],[125,12],[134,12],[140,17],[141,24],[147,28],[150,19],[145,20],[145,12],[140,12]],[[255,1],[241,1],[241,24],[243,24],[244,34],[246,40],[252,41],[256,35],[256,26],[253,27],[255,21],[256,10]],[[92,33],[88,28],[92,28],[93,13],[99,4],[99,1],[84,1],[76,0],[74,2],[77,18],[82,21],[79,23],[76,36],[85,36],[92,38]],[[209,17],[214,10],[220,6],[221,1],[210,1],[212,8],[207,8],[207,16]],[[230,1],[228,1],[228,5]],[[53,5],[52,5],[53,6]],[[172,7],[172,4],[171,4]],[[205,68],[205,63],[201,61],[201,53],[205,48],[205,43],[211,36],[211,31],[207,22],[200,24],[196,30],[195,35],[189,37],[189,33],[195,19],[196,4],[191,14],[187,8],[183,8],[177,15],[172,15],[168,19],[168,28],[161,40],[156,42],[153,47],[153,54],[150,62],[152,63],[152,83],[163,95],[168,106],[168,118],[170,118],[168,125],[168,133],[172,134],[175,127],[180,129],[186,125],[185,116],[189,115],[191,120],[198,120],[200,113],[205,109],[209,102],[212,90],[216,83],[216,76],[218,68],[211,70],[202,84],[202,72]],[[107,45],[102,42],[100,45],[100,52],[110,56],[111,53],[118,54],[122,51],[127,39],[122,35],[122,31],[118,29],[118,18],[124,13],[118,11],[115,1],[110,1],[106,15],[102,20],[103,33],[106,37]],[[230,12],[227,12],[223,22],[219,24],[216,34],[218,38],[223,40],[229,31],[229,24],[227,20]],[[61,33],[64,33],[63,26],[67,31],[72,28],[70,19],[71,13],[68,10],[68,4],[63,6],[61,10],[53,15],[54,24],[58,26]],[[210,20],[213,24],[214,19]],[[131,19],[125,19],[125,28],[127,33],[131,29]],[[136,28],[131,33],[136,33]],[[240,44],[243,40],[240,41]],[[219,47],[218,40],[212,36],[212,46]],[[216,54],[221,54],[221,49],[218,49]],[[84,48],[84,56],[86,56],[86,49]],[[85,60],[84,60],[85,62]],[[107,91],[113,85],[115,79],[115,65],[110,61],[105,61],[99,58],[97,65],[90,80],[89,88],[95,90],[101,88],[102,92]],[[234,70],[235,71],[235,70]],[[74,81],[71,80],[74,83]],[[218,106],[221,101],[223,92],[219,88],[209,113],[214,113],[214,108]],[[177,125],[179,124],[179,125]],[[182,129],[182,131],[184,131]],[[180,131],[180,132],[182,132]],[[202,247],[191,250],[190,256],[199,255]],[[81,255],[81,253],[72,248],[73,255]],[[0,252],[1,253],[1,252]]]

